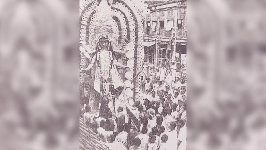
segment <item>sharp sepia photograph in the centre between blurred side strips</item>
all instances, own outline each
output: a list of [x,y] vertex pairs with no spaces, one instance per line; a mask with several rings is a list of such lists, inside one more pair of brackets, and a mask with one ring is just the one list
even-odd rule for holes
[[186,0],[80,0],[80,150],[186,150]]

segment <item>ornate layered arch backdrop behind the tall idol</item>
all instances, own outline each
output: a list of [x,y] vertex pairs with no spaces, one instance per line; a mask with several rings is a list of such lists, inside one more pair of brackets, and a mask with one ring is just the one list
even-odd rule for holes
[[112,16],[113,35],[110,35],[113,51],[116,55],[124,55],[124,64],[129,68],[124,73],[126,94],[133,99],[139,98],[140,77],[144,48],[143,17],[150,10],[144,1],[132,0],[80,0],[80,78],[88,74],[82,70],[90,63],[95,53],[98,37],[94,34],[95,19],[99,19],[96,11],[104,11]]

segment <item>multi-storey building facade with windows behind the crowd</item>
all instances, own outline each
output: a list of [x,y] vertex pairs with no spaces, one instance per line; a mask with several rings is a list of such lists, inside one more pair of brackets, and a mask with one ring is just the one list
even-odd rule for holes
[[147,1],[144,18],[144,62],[150,66],[182,64],[186,55],[186,0]]

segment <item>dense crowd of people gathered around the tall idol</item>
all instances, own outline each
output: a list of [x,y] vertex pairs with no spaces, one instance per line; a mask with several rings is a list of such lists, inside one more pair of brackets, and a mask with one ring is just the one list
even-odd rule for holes
[[[108,99],[100,100],[99,114],[90,106],[81,114],[84,122],[113,149],[186,150],[186,72],[184,65],[172,64],[167,69],[144,66],[140,100],[130,111],[140,127],[129,125],[127,111],[119,106],[115,117],[108,108]],[[139,132],[140,131],[140,132]],[[123,145],[123,146],[121,146]]]

